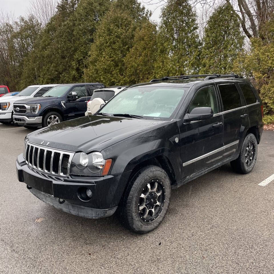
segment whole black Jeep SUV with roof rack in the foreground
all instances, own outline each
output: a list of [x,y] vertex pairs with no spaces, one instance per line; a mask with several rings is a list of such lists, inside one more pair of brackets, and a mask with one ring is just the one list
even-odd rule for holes
[[229,162],[250,172],[262,128],[262,101],[235,74],[154,79],[95,115],[28,134],[18,180],[65,212],[100,218],[118,209],[126,227],[146,233],[164,218],[171,188]]

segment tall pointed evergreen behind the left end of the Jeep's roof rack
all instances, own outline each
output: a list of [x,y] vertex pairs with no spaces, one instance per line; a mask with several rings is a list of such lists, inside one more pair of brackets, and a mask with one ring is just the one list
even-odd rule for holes
[[162,9],[158,35],[158,77],[199,70],[200,40],[196,13],[188,0],[168,0]]

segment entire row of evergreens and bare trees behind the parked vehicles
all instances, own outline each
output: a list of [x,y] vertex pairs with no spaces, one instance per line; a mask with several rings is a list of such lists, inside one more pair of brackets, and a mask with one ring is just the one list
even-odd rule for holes
[[39,20],[41,12],[16,21],[2,16],[0,84],[21,90],[84,78],[126,85],[172,75],[239,73],[260,91],[265,114],[273,114],[273,1],[213,1],[202,36],[195,2],[167,0],[158,24],[137,0],[61,0],[46,21]]

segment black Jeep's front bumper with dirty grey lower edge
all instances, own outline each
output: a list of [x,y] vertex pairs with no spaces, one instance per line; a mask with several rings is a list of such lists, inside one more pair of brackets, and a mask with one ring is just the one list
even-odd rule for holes
[[[23,154],[16,160],[17,178],[27,184],[30,191],[40,200],[65,212],[86,218],[101,218],[112,215],[120,202],[130,172],[122,174],[66,178],[45,174],[29,167]],[[79,198],[82,188],[89,189],[89,201]],[[61,200],[65,200],[60,204]]]

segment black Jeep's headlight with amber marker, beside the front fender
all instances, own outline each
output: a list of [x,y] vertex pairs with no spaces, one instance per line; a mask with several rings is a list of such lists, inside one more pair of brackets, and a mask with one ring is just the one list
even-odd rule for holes
[[77,175],[107,175],[112,164],[112,159],[104,160],[102,153],[84,152],[76,153],[70,166],[70,174]]

